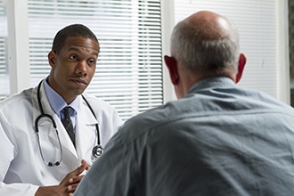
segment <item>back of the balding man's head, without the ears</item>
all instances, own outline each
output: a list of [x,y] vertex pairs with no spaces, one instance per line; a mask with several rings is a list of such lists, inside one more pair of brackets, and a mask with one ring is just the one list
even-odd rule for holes
[[181,69],[208,76],[236,74],[239,34],[232,22],[214,12],[196,12],[177,23],[171,55]]

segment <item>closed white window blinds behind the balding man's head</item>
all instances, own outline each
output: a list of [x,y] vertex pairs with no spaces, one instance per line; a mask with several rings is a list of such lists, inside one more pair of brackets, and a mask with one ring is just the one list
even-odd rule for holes
[[175,21],[200,10],[228,17],[239,29],[241,53],[247,56],[239,86],[277,97],[275,3],[275,0],[175,0]]

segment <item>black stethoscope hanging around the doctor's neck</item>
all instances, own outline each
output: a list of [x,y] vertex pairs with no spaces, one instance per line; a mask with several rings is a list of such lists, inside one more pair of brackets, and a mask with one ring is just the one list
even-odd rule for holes
[[[61,138],[59,136],[59,133],[58,133],[58,130],[57,130],[57,126],[56,126],[55,120],[49,114],[45,114],[45,112],[43,110],[43,106],[41,104],[41,98],[40,98],[41,84],[42,84],[42,81],[37,86],[37,102],[38,102],[38,105],[39,105],[39,109],[41,111],[41,114],[35,120],[35,127],[36,127],[35,133],[36,133],[36,138],[37,138],[37,144],[38,144],[39,151],[40,151],[41,158],[42,158],[43,162],[45,163],[45,165],[47,165],[49,167],[54,167],[54,166],[59,166],[61,164],[62,157],[63,157],[63,151],[62,151],[62,146],[61,146]],[[91,110],[94,118],[96,118],[96,115],[94,113],[94,110],[90,106],[89,102],[86,101],[86,98],[84,97],[84,95],[82,95],[82,97],[83,97],[83,100],[86,102],[86,105],[88,106],[88,108]],[[51,121],[51,123],[53,125],[53,128],[55,129],[55,133],[57,135],[57,138],[58,138],[58,143],[59,143],[59,149],[60,149],[61,156],[60,156],[59,160],[57,160],[55,162],[46,161],[45,160],[45,157],[44,157],[44,154],[43,154],[43,151],[42,151],[42,147],[41,147],[41,143],[40,143],[40,137],[39,137],[39,128],[38,128],[38,122],[40,121],[41,118],[48,118]],[[94,148],[93,148],[93,150],[92,150],[92,156],[93,156],[92,157],[92,161],[93,162],[96,159],[98,159],[102,155],[102,153],[103,153],[103,148],[102,148],[102,145],[100,144],[100,135],[99,135],[99,127],[98,127],[98,124],[95,124],[95,127],[96,127],[96,131],[97,131],[97,145],[95,145]]]

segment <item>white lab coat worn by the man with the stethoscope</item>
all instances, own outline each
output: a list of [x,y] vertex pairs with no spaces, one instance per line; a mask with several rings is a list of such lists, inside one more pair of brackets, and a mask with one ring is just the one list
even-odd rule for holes
[[[48,167],[40,156],[35,133],[35,120],[40,115],[37,103],[37,87],[30,88],[0,103],[0,195],[33,196],[38,186],[57,185],[72,170],[80,166],[81,159],[89,163],[97,143],[95,124],[98,123],[102,146],[110,140],[122,124],[117,112],[106,102],[84,94],[94,110],[96,118],[83,99],[77,111],[76,149],[53,112],[41,86],[40,97],[45,114],[56,122],[62,146],[62,160],[58,167]],[[61,157],[58,138],[51,123],[40,123],[40,143],[45,161],[57,161]],[[49,130],[48,130],[49,129]]]

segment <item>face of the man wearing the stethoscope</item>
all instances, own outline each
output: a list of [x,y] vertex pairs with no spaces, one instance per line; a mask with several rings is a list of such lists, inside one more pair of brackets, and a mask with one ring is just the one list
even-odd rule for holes
[[99,45],[94,39],[68,37],[60,52],[51,51],[49,85],[65,102],[72,102],[90,84],[96,69]]

